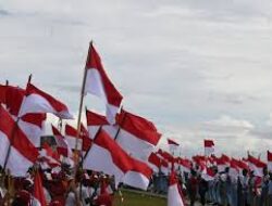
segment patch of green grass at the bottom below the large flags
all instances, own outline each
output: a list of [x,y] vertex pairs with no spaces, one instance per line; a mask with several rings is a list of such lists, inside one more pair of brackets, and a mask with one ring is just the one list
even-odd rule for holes
[[148,194],[137,194],[123,191],[124,201],[121,203],[119,194],[114,197],[114,206],[165,206],[166,198],[154,197]]

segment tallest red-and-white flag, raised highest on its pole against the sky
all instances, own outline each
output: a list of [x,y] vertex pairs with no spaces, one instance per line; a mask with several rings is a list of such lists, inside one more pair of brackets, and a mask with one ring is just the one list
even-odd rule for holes
[[85,69],[87,72],[84,93],[100,98],[106,103],[107,119],[110,124],[114,124],[123,96],[106,74],[100,56],[92,44],[89,47]]

